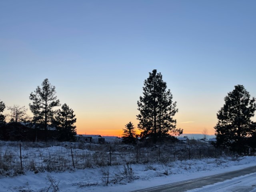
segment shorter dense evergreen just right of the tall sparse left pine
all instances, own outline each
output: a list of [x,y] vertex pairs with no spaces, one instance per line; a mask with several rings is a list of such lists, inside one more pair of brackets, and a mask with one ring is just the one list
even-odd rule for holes
[[56,126],[58,131],[58,140],[59,141],[70,141],[74,140],[76,135],[76,122],[74,111],[69,108],[65,103],[62,105],[61,110],[57,111],[57,114],[53,120],[53,124]]

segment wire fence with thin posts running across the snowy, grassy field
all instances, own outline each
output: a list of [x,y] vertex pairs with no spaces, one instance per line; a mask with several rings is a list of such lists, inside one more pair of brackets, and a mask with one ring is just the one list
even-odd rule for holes
[[[168,163],[176,160],[217,158],[228,150],[210,144],[178,143],[144,146],[70,142],[0,142],[0,174],[15,175],[26,170],[62,172],[121,164]],[[232,154],[230,154],[232,155]]]

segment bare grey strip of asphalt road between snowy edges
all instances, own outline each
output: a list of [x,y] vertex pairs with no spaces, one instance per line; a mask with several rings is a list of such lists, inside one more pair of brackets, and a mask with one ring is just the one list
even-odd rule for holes
[[243,176],[243,175],[247,175],[255,172],[256,172],[256,166],[253,166],[253,167],[245,168],[242,170],[236,170],[236,171],[226,172],[222,174],[201,177],[201,178],[192,179],[192,180],[186,180],[183,182],[165,184],[161,186],[145,188],[142,190],[136,190],[132,192],[185,192],[187,190],[200,188],[206,185],[215,184],[217,182],[222,182],[228,179],[232,179],[235,177],[239,177],[239,176]]

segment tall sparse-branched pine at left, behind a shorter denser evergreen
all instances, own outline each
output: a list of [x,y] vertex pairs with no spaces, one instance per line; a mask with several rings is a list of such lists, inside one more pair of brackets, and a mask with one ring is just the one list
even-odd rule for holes
[[36,90],[31,92],[30,100],[32,104],[29,104],[30,110],[34,114],[34,122],[44,128],[44,139],[48,139],[48,125],[51,124],[52,117],[54,115],[53,108],[60,106],[60,101],[55,96],[55,86],[52,86],[48,79],[42,82],[42,88],[39,86]]

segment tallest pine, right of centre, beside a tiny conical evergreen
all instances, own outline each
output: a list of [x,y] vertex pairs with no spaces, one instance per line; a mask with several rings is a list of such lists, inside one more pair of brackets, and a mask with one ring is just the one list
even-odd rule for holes
[[162,74],[153,70],[144,81],[143,97],[138,101],[140,121],[138,128],[142,131],[142,138],[152,137],[154,142],[161,140],[162,136],[182,134],[181,129],[176,128],[176,120],[173,116],[178,112],[176,102],[172,101],[170,90],[166,90],[166,82],[162,80]]

